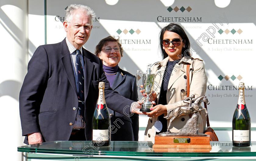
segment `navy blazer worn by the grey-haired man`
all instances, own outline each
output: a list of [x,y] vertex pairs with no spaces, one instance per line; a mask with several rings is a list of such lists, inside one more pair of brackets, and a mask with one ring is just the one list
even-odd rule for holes
[[[112,110],[129,115],[133,101],[113,91],[102,61],[83,48],[85,137],[91,140],[92,116],[98,84],[105,82],[105,100]],[[75,107],[75,108],[74,108]],[[75,109],[75,110],[74,110]],[[66,39],[37,48],[20,91],[20,119],[24,143],[27,134],[41,132],[44,141],[69,140],[78,109],[76,83]]]

